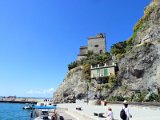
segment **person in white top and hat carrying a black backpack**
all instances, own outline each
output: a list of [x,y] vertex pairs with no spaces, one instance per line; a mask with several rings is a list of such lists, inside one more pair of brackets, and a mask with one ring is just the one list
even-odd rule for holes
[[132,118],[132,115],[129,112],[127,100],[124,100],[123,102],[123,107],[122,107],[120,116],[122,120],[129,120],[129,118]]

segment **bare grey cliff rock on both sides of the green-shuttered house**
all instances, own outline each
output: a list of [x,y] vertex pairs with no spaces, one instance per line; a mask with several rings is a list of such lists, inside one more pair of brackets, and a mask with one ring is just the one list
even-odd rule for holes
[[[103,95],[131,96],[133,90],[160,91],[160,5],[154,0],[145,8],[144,16],[134,27],[133,47],[117,61],[119,85],[112,91],[102,90]],[[71,70],[54,94],[54,101],[64,101],[71,95],[87,94],[87,80],[83,79],[82,67]],[[96,84],[89,84],[89,97],[96,94]]]

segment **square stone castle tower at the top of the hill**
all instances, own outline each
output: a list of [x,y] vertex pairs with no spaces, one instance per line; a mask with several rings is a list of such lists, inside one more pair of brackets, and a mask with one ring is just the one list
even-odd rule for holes
[[95,37],[88,38],[88,51],[101,54],[106,52],[106,35],[104,33],[97,34]]

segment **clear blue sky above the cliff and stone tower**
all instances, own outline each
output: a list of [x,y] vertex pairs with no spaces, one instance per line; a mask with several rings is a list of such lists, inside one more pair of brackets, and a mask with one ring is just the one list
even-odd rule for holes
[[127,40],[151,0],[0,0],[0,96],[52,97],[87,38]]

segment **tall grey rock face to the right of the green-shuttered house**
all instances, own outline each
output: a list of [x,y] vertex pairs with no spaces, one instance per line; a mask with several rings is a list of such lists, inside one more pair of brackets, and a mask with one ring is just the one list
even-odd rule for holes
[[[134,27],[134,46],[118,61],[118,79],[131,90],[158,91],[160,89],[160,6],[152,2]],[[118,87],[114,95],[126,95]]]

